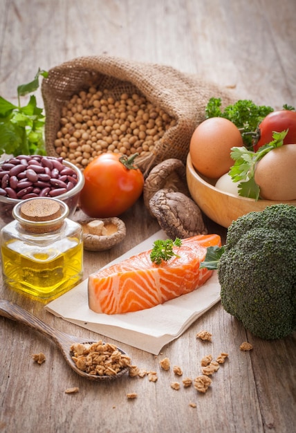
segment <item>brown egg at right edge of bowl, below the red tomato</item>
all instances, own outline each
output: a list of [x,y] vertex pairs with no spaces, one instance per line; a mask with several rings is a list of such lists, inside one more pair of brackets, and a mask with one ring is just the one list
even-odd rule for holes
[[255,182],[266,200],[296,200],[296,144],[268,152],[256,166]]

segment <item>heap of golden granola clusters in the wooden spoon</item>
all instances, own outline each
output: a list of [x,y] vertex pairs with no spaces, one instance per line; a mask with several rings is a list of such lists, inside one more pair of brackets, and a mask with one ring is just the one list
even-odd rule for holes
[[110,343],[102,340],[93,344],[74,343],[70,347],[72,359],[78,369],[95,376],[115,376],[131,367],[131,358]]

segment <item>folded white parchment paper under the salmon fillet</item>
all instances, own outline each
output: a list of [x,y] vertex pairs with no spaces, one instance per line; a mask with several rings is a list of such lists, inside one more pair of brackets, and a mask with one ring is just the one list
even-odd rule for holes
[[[156,239],[167,239],[167,236],[160,230],[107,266],[149,250]],[[198,317],[219,302],[220,290],[215,271],[203,286],[192,293],[147,310],[107,315],[89,309],[86,278],[44,308],[68,322],[158,355],[165,344],[182,335]]]

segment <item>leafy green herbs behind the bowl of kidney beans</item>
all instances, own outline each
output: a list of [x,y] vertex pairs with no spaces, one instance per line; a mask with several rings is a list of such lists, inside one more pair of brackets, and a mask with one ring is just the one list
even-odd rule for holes
[[17,88],[18,106],[0,96],[0,153],[45,155],[43,109],[37,107],[35,95],[21,107],[21,96],[33,93],[39,87],[39,75],[47,77],[40,69],[35,79]]

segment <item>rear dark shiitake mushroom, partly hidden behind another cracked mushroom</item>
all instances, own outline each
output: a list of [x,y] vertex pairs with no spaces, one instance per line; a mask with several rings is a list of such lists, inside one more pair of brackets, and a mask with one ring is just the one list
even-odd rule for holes
[[186,181],[186,167],[180,159],[164,160],[151,169],[145,179],[143,198],[145,206],[150,212],[150,199],[156,192],[163,189],[182,192],[185,196],[190,195]]

